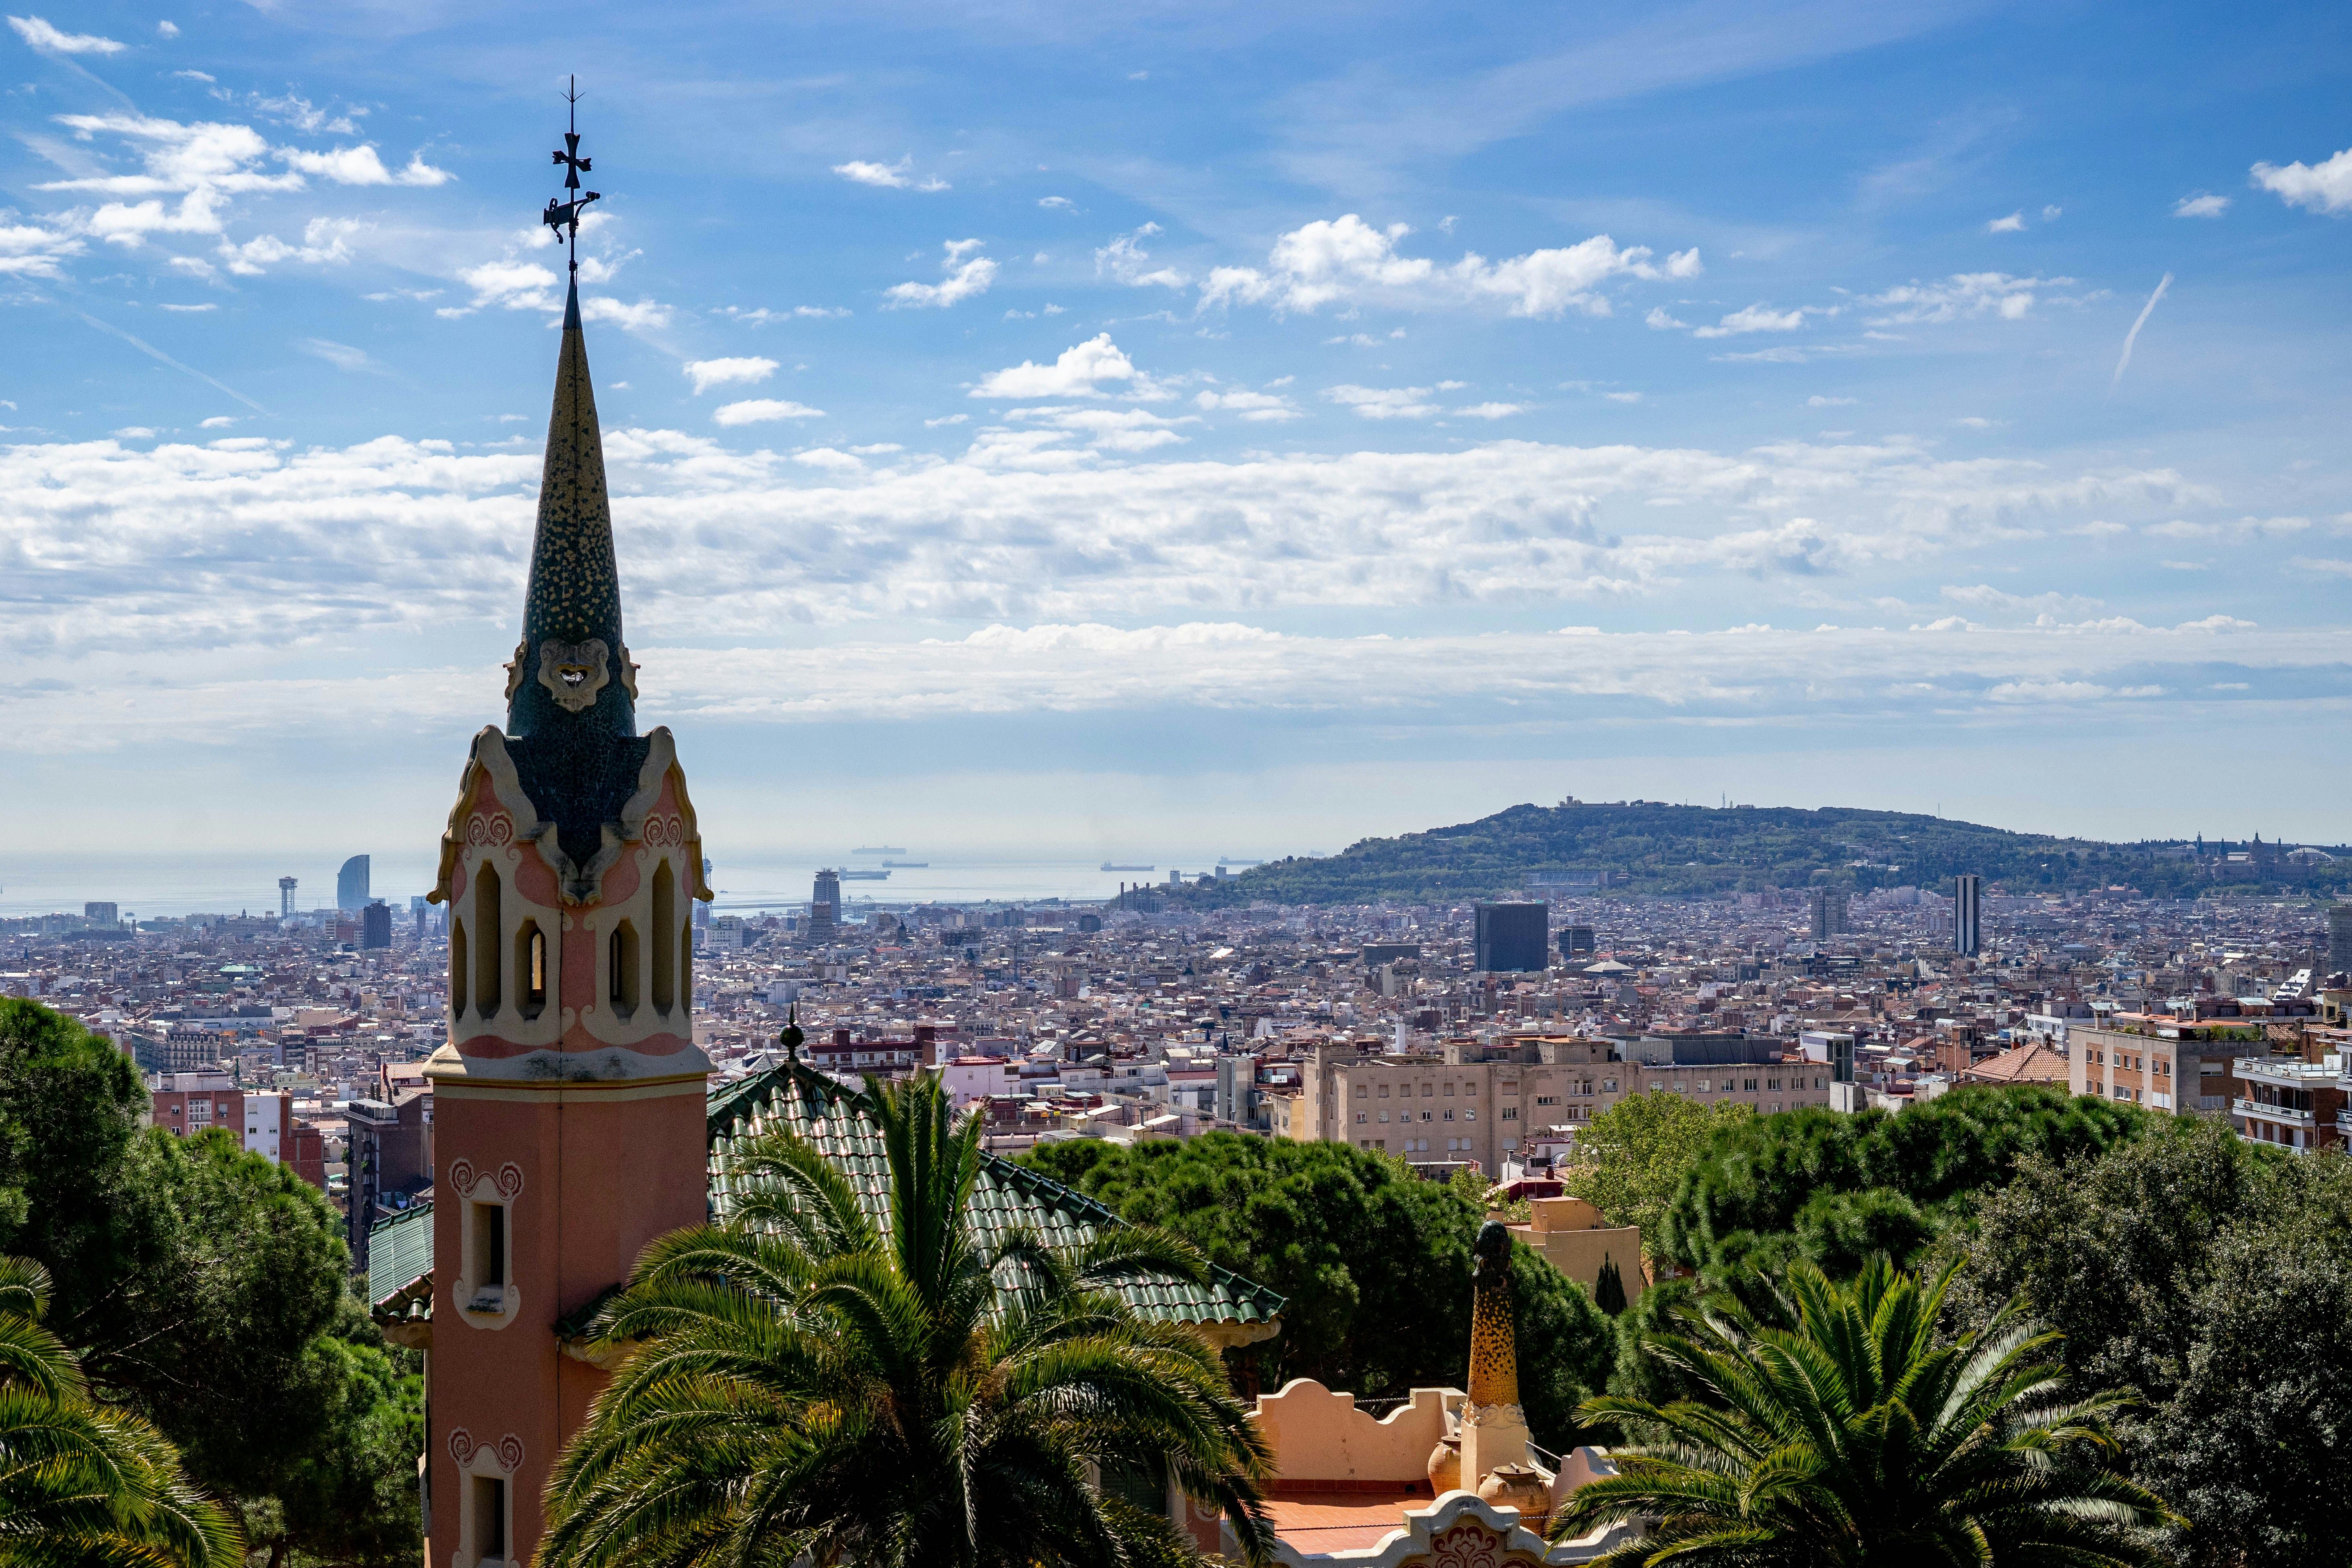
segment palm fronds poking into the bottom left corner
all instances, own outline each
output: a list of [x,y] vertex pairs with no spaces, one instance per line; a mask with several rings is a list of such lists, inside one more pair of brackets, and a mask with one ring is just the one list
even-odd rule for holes
[[99,1406],[42,1326],[49,1274],[0,1258],[0,1563],[235,1568],[245,1542],[136,1415]]

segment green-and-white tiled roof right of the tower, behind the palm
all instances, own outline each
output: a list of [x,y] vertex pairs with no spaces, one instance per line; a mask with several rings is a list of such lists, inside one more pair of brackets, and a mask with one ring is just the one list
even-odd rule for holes
[[[861,1110],[861,1100],[863,1095],[797,1065],[774,1067],[713,1088],[710,1215],[727,1218],[734,1197],[729,1164],[734,1147],[755,1133],[793,1131],[823,1150],[849,1175],[870,1215],[884,1218],[889,1190],[882,1131]],[[995,1154],[981,1154],[971,1211],[983,1244],[1016,1227],[1028,1227],[1047,1246],[1080,1246],[1105,1227],[1127,1225],[1094,1199]],[[1211,1267],[1207,1284],[1145,1274],[1120,1286],[1120,1295],[1141,1316],[1176,1324],[1270,1324],[1282,1314],[1279,1295],[1218,1267]]]

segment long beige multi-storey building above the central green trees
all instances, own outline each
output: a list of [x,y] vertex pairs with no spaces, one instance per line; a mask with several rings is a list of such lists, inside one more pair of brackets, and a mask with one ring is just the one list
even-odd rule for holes
[[1828,1063],[1780,1060],[1773,1041],[1712,1051],[1750,1060],[1675,1060],[1691,1053],[1672,1037],[1451,1039],[1425,1053],[1317,1046],[1298,1093],[1275,1110],[1275,1135],[1501,1171],[1503,1157],[1536,1135],[1573,1131],[1635,1093],[1731,1100],[1766,1114],[1830,1103]]

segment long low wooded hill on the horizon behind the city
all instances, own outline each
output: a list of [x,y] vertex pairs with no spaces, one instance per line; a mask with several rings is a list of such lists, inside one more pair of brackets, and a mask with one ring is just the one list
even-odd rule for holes
[[1851,891],[1950,891],[1976,872],[1987,891],[2122,886],[2150,898],[2328,896],[2352,882],[2352,849],[2263,839],[2103,844],[2009,832],[1907,811],[1825,806],[1670,806],[1665,802],[1510,806],[1475,823],[1362,839],[1336,856],[1268,860],[1181,893],[1190,907],[1270,903],[1451,903],[1529,884],[1599,884],[1611,896],[1708,898],[1830,882]]

